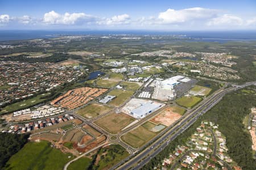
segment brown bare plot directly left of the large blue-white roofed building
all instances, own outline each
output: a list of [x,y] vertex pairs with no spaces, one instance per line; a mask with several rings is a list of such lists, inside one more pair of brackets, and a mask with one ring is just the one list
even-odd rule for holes
[[135,121],[135,118],[128,116],[125,113],[111,113],[95,121],[95,123],[109,131],[109,133],[114,134],[121,131],[133,121]]

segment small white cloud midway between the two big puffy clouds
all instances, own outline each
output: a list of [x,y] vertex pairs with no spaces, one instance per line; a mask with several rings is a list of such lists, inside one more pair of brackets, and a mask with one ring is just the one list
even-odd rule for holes
[[115,15],[112,18],[102,19],[97,23],[106,25],[129,24],[130,16],[128,14]]

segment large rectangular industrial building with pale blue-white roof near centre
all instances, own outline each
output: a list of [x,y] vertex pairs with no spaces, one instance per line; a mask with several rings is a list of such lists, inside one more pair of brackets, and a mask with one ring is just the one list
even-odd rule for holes
[[148,114],[158,110],[160,107],[162,107],[162,104],[148,101],[147,103],[133,109],[130,114],[135,118],[143,118]]

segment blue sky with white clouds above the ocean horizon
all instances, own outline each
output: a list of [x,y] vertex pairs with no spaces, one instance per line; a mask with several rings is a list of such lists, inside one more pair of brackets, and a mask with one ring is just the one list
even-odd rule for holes
[[256,1],[0,0],[0,29],[256,30]]

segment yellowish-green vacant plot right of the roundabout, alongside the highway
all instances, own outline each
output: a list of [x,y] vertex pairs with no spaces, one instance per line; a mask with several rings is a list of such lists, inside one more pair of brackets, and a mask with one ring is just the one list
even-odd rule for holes
[[139,126],[138,128],[129,131],[129,133],[122,135],[121,139],[130,146],[139,148],[155,137],[155,135],[156,133],[144,128],[143,126]]

